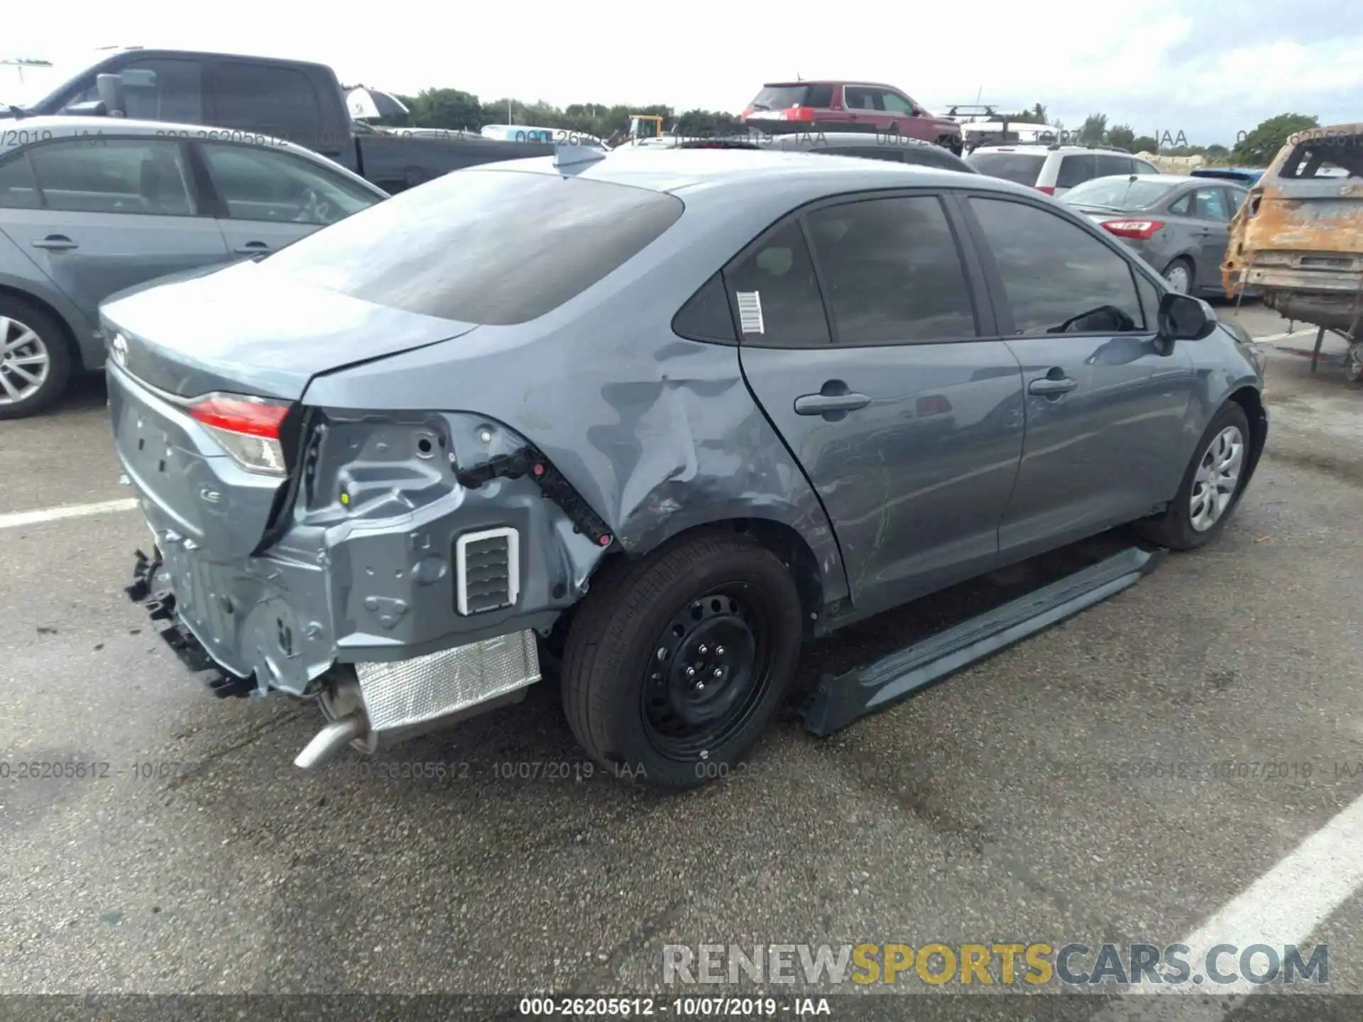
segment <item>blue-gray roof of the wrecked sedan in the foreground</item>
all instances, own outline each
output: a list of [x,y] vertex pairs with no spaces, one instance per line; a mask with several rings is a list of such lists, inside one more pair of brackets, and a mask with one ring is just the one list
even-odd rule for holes
[[[836,195],[856,188],[960,188],[961,172],[887,159],[827,159],[818,153],[771,153],[747,149],[615,149],[601,158],[557,166],[553,157],[480,164],[457,173],[522,170],[612,181],[657,192],[699,187],[724,188],[762,183],[788,195]],[[1000,179],[970,176],[972,188],[1035,195],[1030,188]]]

